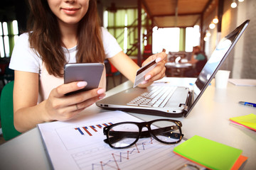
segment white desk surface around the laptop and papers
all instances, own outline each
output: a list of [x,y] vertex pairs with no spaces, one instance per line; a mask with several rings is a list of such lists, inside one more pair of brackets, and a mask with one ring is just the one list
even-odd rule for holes
[[[190,78],[164,78],[171,84],[188,86],[195,79]],[[132,86],[127,81],[110,91],[110,96]],[[210,140],[242,149],[242,155],[248,157],[244,169],[255,169],[256,167],[256,132],[246,128],[238,127],[230,123],[229,118],[240,115],[256,114],[255,108],[240,106],[238,101],[256,102],[256,87],[235,86],[228,84],[227,89],[215,89],[214,81],[208,86],[205,93],[198,101],[193,111],[187,118],[175,118],[181,120],[184,137],[200,135]],[[87,108],[87,112],[104,112],[97,106]],[[132,115],[142,120],[153,120],[159,118],[154,115]],[[46,152],[38,132],[38,128],[29,130],[22,135],[0,145],[0,169],[50,169]]]

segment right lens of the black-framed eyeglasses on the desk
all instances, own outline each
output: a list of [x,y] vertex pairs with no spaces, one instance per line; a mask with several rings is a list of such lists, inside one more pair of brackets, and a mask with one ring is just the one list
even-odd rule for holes
[[181,139],[181,132],[176,123],[166,120],[157,121],[151,124],[152,134],[163,142],[178,142]]

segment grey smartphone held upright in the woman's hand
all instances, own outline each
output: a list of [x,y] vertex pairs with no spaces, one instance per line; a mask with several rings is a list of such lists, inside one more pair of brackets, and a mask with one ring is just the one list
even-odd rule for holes
[[75,94],[80,91],[87,91],[98,88],[104,64],[102,63],[68,63],[64,67],[64,84],[73,81],[86,81],[84,89],[70,92],[66,95]]

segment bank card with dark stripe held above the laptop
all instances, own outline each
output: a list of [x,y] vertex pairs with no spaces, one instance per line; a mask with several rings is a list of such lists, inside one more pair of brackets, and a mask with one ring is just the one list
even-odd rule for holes
[[152,60],[151,62],[149,62],[148,64],[144,65],[143,67],[139,68],[137,70],[137,74],[135,77],[135,81],[134,81],[134,86],[136,87],[138,86],[138,84],[141,84],[142,81],[145,80],[145,75],[150,72],[152,69],[154,69],[154,67],[156,67],[156,60]]

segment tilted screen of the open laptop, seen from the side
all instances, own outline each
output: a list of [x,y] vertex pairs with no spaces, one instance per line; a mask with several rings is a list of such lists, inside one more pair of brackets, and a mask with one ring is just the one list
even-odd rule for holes
[[[213,79],[216,72],[218,72],[220,65],[224,62],[225,58],[228,57],[228,54],[244,32],[248,23],[249,21],[245,21],[238,28],[233,30],[232,33],[220,40],[212,55],[210,55],[208,62],[206,62],[206,65],[199,74],[198,79],[196,79],[196,83],[193,86],[194,102],[192,103],[191,107],[188,108],[188,113],[191,111],[193,106],[195,106],[196,102],[203,94],[203,91],[206,90],[207,86],[210,84],[210,81]],[[185,117],[188,115],[188,113],[185,115]]]

